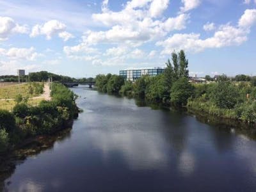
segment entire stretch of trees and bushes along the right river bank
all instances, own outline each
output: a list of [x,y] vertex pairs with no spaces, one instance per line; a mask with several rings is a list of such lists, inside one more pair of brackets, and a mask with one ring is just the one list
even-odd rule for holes
[[142,76],[134,83],[120,78],[111,74],[98,75],[95,79],[97,89],[256,123],[256,77],[238,75],[228,78],[223,75],[213,79],[206,76],[207,81],[216,81],[189,83],[188,60],[184,51],[172,53],[172,60],[166,62],[161,75]]

